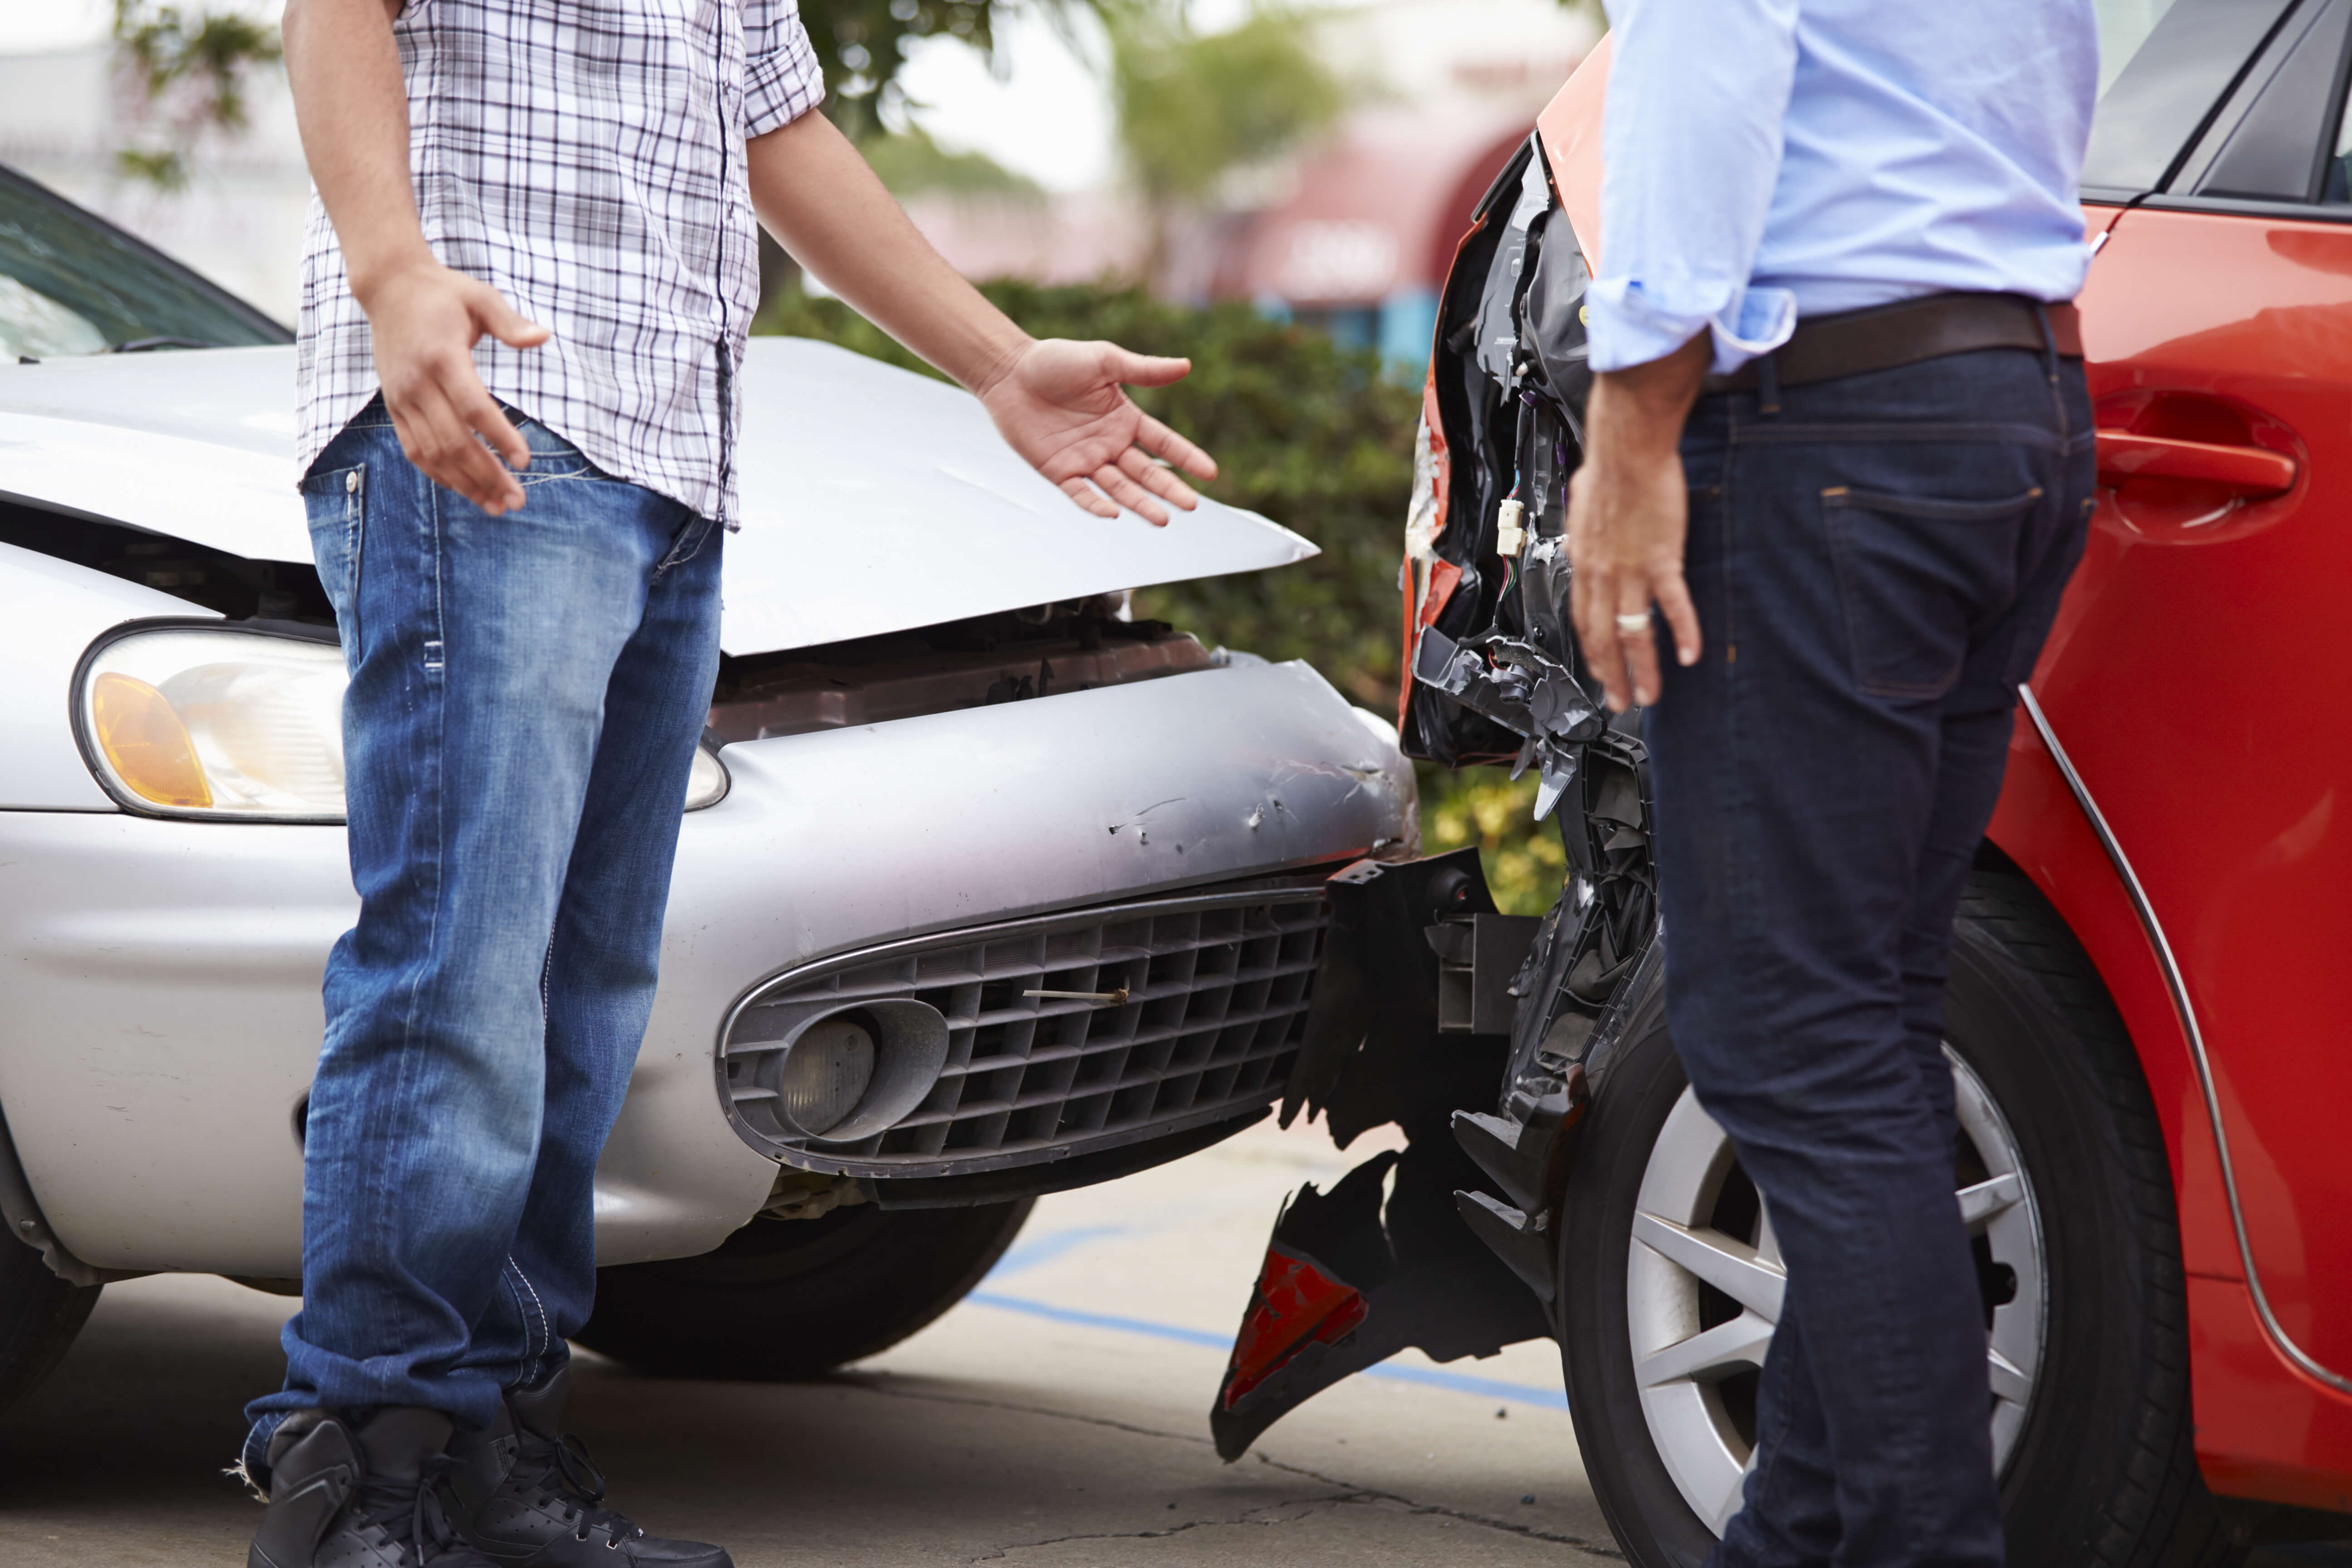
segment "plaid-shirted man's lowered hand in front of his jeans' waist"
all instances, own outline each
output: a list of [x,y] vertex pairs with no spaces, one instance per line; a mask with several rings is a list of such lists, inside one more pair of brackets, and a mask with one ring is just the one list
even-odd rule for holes
[[400,268],[360,303],[400,451],[492,517],[522,505],[522,484],[508,470],[529,468],[532,449],[482,388],[473,346],[489,334],[508,348],[539,348],[548,329],[522,320],[487,282],[437,261]]

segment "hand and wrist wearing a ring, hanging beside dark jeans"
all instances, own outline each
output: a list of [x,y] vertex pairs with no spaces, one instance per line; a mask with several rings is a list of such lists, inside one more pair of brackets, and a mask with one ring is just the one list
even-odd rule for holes
[[1698,609],[1682,581],[1689,489],[1682,421],[1708,374],[1708,334],[1663,360],[1595,376],[1585,461],[1569,480],[1569,567],[1576,642],[1611,712],[1658,701],[1651,604],[1675,656],[1698,663]]

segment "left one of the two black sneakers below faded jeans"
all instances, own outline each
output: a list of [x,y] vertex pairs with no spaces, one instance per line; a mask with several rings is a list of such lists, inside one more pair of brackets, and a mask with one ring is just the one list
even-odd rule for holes
[[270,1502],[245,1568],[494,1568],[442,1514],[447,1448],[440,1410],[296,1410],[270,1436]]

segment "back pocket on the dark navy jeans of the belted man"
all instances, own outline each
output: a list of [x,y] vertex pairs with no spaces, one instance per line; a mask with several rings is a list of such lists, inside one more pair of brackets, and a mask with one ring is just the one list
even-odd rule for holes
[[2016,597],[2016,524],[2039,501],[2042,487],[1994,501],[1820,491],[1853,684],[1889,698],[1947,693],[1973,628]]

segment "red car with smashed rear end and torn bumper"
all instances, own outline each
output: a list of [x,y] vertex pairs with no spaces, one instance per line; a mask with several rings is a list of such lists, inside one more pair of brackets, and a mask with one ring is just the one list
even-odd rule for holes
[[[2100,28],[2103,489],[1957,926],[1955,1192],[2011,1561],[2187,1568],[2352,1537],[2352,0]],[[1569,886],[1515,922],[1465,856],[1334,884],[1287,1110],[1411,1147],[1294,1199],[1214,1425],[1550,1333],[1663,1568],[1738,1507],[1783,1276],[1665,1037],[1637,724],[1562,625],[1604,82],[1606,45],[1463,240],[1404,576],[1406,750],[1541,766]]]

